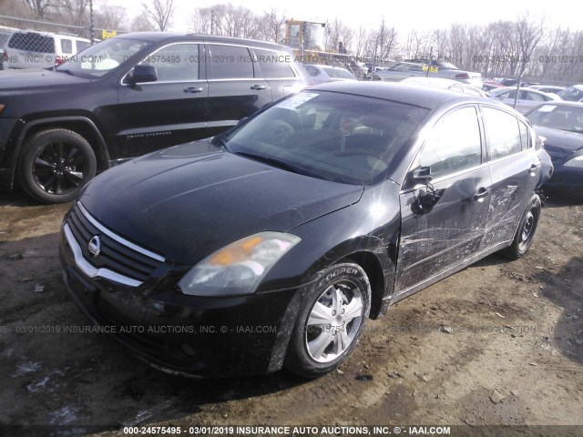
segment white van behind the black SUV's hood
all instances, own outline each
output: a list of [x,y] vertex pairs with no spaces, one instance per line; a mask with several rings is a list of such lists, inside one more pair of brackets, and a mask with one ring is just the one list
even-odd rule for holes
[[91,42],[78,36],[37,32],[15,31],[5,45],[5,68],[48,68],[58,66],[90,46]]

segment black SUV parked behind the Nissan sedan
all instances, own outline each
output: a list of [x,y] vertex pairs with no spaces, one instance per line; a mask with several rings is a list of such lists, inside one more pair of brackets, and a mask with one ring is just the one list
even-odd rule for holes
[[211,137],[309,83],[289,48],[132,33],[53,70],[0,73],[0,188],[69,201],[96,172]]

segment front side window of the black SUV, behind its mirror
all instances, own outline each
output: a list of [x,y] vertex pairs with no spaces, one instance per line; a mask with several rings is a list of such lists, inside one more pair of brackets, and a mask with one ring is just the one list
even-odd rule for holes
[[182,82],[199,79],[198,61],[198,44],[173,44],[160,48],[141,64],[154,66],[159,82]]

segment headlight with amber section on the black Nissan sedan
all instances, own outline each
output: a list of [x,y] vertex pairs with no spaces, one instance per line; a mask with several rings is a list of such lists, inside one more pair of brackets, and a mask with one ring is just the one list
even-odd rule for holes
[[300,238],[281,232],[260,232],[217,250],[189,270],[179,289],[192,296],[252,294],[273,265]]

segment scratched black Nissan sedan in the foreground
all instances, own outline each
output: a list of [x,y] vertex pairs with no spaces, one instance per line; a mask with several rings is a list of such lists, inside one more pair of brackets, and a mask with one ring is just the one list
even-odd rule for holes
[[314,86],[89,182],[63,224],[66,285],[159,369],[319,376],[395,301],[527,252],[535,143],[490,99]]

